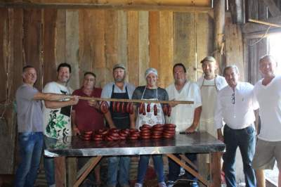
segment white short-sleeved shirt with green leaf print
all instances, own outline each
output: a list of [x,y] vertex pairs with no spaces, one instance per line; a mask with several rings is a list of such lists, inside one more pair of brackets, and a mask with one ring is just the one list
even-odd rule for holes
[[[71,94],[72,89],[63,86],[57,82],[49,82],[43,89],[44,93]],[[62,100],[67,101],[67,99]],[[50,109],[44,105],[44,135],[49,138],[62,139],[65,136],[71,136],[71,106],[63,108]]]

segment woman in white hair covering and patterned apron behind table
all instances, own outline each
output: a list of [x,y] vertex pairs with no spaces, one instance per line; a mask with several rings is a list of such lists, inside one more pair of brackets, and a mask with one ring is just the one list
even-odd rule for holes
[[[165,89],[157,86],[158,74],[154,68],[148,68],[145,71],[146,86],[138,86],[133,92],[133,99],[142,99],[151,101],[150,112],[146,111],[148,103],[145,103],[145,115],[137,113],[136,127],[139,128],[143,124],[153,126],[155,124],[164,124],[164,113],[160,103],[153,103],[153,101],[168,101],[168,93]],[[154,105],[157,106],[157,115],[154,114]],[[138,162],[138,178],[135,187],[143,186],[146,169],[148,168],[150,155],[141,155]],[[164,168],[162,155],[152,155],[153,164],[158,177],[158,186],[166,187],[164,182]]]

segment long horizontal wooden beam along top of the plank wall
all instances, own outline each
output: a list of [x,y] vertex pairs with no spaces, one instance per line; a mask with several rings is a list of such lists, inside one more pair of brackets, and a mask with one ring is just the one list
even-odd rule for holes
[[209,13],[212,8],[209,6],[171,6],[171,5],[145,5],[145,4],[129,4],[129,5],[110,5],[110,4],[34,4],[30,2],[3,2],[0,0],[0,7],[8,8],[91,8],[91,9],[112,9],[126,11],[178,11],[178,12],[194,12]]

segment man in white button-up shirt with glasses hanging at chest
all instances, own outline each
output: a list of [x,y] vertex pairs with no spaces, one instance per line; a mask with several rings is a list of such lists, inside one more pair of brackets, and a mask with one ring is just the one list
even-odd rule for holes
[[[226,67],[223,75],[228,86],[218,92],[215,124],[218,129],[218,139],[226,143],[226,153],[223,154],[226,185],[236,186],[234,163],[236,150],[239,147],[246,186],[256,186],[254,169],[251,167],[256,144],[254,110],[259,108],[254,99],[254,86],[238,81],[239,70],[235,65]],[[226,123],[224,127],[223,122]]]

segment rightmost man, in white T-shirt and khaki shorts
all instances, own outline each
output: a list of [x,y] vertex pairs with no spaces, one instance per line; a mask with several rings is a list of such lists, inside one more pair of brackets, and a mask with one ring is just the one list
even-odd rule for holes
[[253,167],[258,186],[263,187],[266,186],[263,169],[273,169],[275,161],[279,169],[278,186],[281,186],[281,77],[275,76],[276,65],[272,56],[263,56],[259,60],[263,79],[254,86],[254,95],[260,105],[261,131]]

